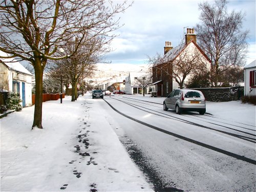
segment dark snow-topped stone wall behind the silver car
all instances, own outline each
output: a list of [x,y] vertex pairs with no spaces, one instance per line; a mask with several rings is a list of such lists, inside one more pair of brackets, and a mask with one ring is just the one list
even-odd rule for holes
[[243,87],[229,87],[229,88],[195,88],[204,94],[207,101],[236,101],[239,100],[241,94],[239,93]]

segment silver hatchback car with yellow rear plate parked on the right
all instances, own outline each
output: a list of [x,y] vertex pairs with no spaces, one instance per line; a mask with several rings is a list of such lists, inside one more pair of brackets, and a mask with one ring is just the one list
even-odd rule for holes
[[205,98],[201,91],[190,89],[176,89],[163,101],[163,110],[176,110],[177,114],[183,111],[197,111],[203,115],[206,111]]

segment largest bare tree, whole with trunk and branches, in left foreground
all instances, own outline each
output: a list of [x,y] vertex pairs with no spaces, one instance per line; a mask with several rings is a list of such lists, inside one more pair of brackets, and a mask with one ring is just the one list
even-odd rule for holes
[[[4,0],[0,4],[0,50],[8,58],[20,58],[35,70],[35,110],[32,129],[42,129],[42,77],[47,61],[76,57],[86,34],[92,38],[104,36],[109,43],[118,26],[116,14],[127,6],[110,1],[94,0]],[[109,35],[111,34],[111,35]],[[73,44],[69,55],[59,48]]]

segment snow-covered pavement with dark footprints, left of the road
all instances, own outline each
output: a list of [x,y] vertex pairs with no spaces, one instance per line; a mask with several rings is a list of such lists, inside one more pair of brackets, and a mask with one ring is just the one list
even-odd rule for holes
[[152,191],[97,101],[44,102],[42,130],[34,106],[0,119],[1,191]]

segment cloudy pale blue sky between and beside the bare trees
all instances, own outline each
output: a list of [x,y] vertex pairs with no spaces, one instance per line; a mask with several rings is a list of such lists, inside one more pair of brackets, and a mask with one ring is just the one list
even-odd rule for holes
[[[154,56],[157,52],[163,54],[165,41],[171,41],[174,47],[178,46],[184,36],[184,28],[186,31],[186,28],[193,28],[200,22],[200,2],[135,0],[132,7],[121,14],[120,24],[124,26],[116,31],[119,36],[112,42],[115,51],[109,53],[106,59],[112,63],[140,65],[146,62],[147,55]],[[230,1],[228,10],[232,9],[246,13],[244,30],[250,31],[247,65],[256,59],[255,0]]]

